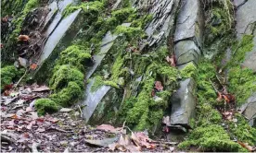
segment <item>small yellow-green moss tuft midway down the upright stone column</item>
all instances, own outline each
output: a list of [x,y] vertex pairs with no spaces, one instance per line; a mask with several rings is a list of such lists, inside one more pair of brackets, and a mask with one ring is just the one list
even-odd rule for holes
[[189,63],[188,65],[186,65],[186,67],[184,67],[181,70],[181,76],[183,78],[189,78],[189,77],[197,78],[198,68],[196,67],[196,65]]

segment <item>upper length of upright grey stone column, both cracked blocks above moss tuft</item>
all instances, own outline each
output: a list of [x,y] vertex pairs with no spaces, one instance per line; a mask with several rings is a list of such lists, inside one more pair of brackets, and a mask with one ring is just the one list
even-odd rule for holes
[[174,55],[178,67],[182,68],[189,62],[198,63],[202,30],[203,15],[199,1],[183,1],[174,33]]

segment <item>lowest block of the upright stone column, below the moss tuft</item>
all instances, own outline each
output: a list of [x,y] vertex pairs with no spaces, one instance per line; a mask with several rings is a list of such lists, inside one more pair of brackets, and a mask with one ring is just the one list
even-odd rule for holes
[[189,121],[194,117],[196,108],[195,88],[195,81],[192,78],[187,78],[180,83],[180,88],[173,93],[171,125],[182,125],[190,128]]

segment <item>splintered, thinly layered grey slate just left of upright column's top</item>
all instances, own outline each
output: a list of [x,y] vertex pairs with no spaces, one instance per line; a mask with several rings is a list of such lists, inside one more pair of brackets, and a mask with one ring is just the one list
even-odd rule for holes
[[134,7],[147,9],[148,14],[153,16],[147,25],[147,44],[152,46],[159,43],[170,35],[173,29],[175,13],[180,0],[134,0]]

